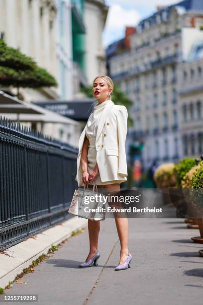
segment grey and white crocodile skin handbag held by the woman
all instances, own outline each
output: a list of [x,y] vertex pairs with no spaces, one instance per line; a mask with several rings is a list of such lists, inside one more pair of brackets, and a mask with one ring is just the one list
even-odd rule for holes
[[[97,191],[95,191],[95,186]],[[98,195],[98,196],[96,196]],[[98,192],[97,184],[94,181],[93,190],[78,188],[75,190],[68,212],[72,215],[87,218],[90,220],[105,219],[105,201],[101,192]]]

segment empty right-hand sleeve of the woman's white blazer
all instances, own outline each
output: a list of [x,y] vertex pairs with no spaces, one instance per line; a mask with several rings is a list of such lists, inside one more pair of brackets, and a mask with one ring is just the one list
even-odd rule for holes
[[127,176],[127,161],[125,153],[125,140],[127,135],[127,118],[128,113],[125,106],[120,106],[117,111],[117,131],[118,131],[118,148],[119,148],[119,159],[118,159],[118,174],[122,177]]

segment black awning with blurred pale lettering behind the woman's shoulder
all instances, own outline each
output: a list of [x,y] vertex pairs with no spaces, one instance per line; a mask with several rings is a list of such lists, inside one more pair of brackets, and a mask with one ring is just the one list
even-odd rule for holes
[[95,99],[87,99],[77,101],[50,100],[32,103],[76,121],[87,121],[94,110],[93,104],[95,102]]

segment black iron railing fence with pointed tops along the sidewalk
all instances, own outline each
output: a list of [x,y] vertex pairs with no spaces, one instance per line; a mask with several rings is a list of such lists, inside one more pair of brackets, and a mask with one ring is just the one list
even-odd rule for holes
[[0,250],[71,217],[77,154],[0,116]]

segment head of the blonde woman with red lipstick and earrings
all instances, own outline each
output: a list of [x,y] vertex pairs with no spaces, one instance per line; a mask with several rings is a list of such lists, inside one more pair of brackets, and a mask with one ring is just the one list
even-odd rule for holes
[[102,78],[97,78],[93,84],[94,97],[99,101],[109,99],[108,92],[111,93],[112,89],[108,87],[108,84]]

